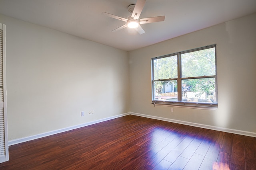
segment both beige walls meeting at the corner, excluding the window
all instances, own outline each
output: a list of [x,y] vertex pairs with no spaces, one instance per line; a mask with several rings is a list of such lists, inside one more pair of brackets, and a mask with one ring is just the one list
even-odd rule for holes
[[[130,53],[2,15],[0,23],[6,24],[9,140],[129,111],[256,132],[256,14]],[[154,107],[151,58],[214,43],[218,109]]]

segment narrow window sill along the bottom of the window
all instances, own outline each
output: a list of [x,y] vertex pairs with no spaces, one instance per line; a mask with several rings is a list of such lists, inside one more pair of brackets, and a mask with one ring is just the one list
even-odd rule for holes
[[192,103],[192,102],[166,102],[153,100],[152,103],[154,106],[174,106],[174,107],[184,107],[191,109],[207,109],[207,110],[216,110],[218,109],[218,104],[209,104],[209,103]]

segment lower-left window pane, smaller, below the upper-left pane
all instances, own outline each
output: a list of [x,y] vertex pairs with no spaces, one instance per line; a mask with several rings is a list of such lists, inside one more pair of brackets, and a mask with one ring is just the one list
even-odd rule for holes
[[178,101],[177,80],[154,82],[154,100]]

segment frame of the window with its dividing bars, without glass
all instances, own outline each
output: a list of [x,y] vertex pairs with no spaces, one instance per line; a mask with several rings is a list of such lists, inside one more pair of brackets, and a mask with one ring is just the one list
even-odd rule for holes
[[[184,77],[182,78],[182,63],[181,63],[181,55],[185,53],[190,53],[194,51],[200,51],[204,49],[215,48],[215,75],[211,76],[200,76],[200,77]],[[217,88],[217,57],[216,57],[216,44],[214,45],[207,45],[205,47],[200,47],[196,49],[186,50],[178,53],[172,53],[169,55],[164,55],[160,57],[154,57],[151,59],[151,66],[152,66],[152,104],[155,105],[162,105],[162,106],[175,106],[175,107],[189,107],[189,108],[198,108],[198,109],[216,109],[218,108],[218,88]],[[154,80],[154,60],[161,59],[165,57],[177,56],[177,66],[178,66],[178,78],[169,78],[169,79],[158,79]],[[187,79],[199,79],[199,78],[215,78],[215,95],[216,95],[216,102],[215,103],[201,103],[201,102],[182,102],[182,80]],[[154,82],[157,81],[168,81],[168,80],[177,80],[177,92],[178,92],[178,101],[165,101],[165,100],[155,100],[154,99]]]

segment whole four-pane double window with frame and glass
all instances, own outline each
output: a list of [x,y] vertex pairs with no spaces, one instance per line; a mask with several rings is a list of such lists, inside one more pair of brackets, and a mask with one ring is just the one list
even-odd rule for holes
[[152,58],[152,104],[218,107],[216,45]]

